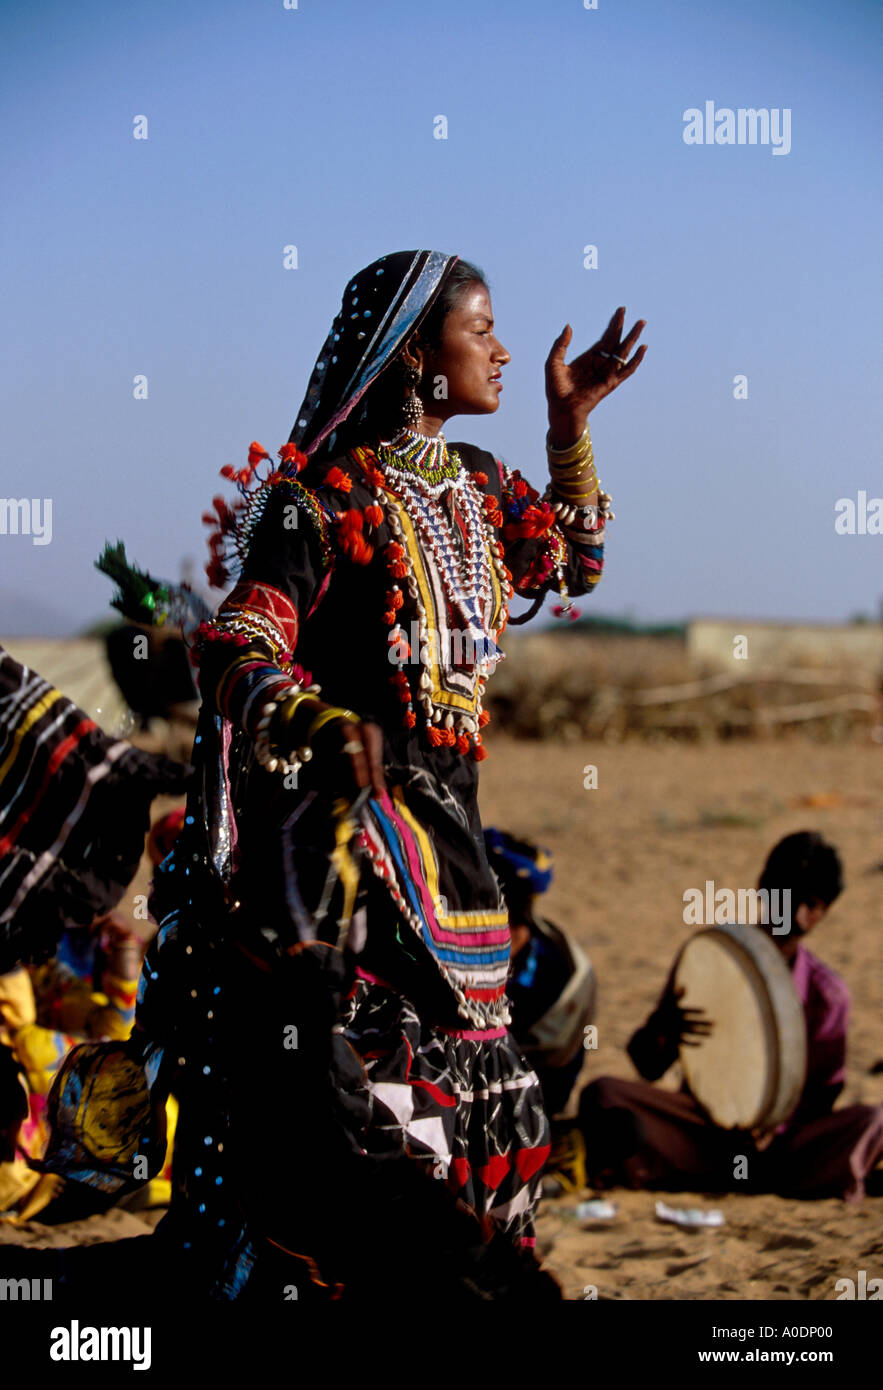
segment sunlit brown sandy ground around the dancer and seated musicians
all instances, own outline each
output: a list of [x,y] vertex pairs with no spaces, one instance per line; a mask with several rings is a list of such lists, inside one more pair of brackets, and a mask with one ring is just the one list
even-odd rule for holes
[[[783,834],[818,828],[841,851],[847,891],[812,948],[852,992],[850,1068],[841,1104],[883,1102],[880,888],[883,748],[808,741],[644,745],[513,744],[488,731],[481,770],[485,824],[540,840],[558,876],[548,915],[588,948],[599,980],[599,1047],[583,1080],[633,1076],[624,1054],[690,934],[683,894],[705,878],[748,885]],[[585,790],[584,767],[598,769]],[[666,1084],[676,1086],[670,1073]],[[590,1195],[590,1194],[584,1194]],[[684,1232],[656,1222],[649,1193],[613,1191],[612,1223],[573,1218],[577,1198],[546,1201],[538,1244],[569,1298],[836,1297],[834,1283],[883,1276],[883,1198],[858,1207],[741,1194],[665,1197],[718,1207],[726,1225]],[[0,1243],[70,1244],[143,1234],[156,1213],[110,1212],[68,1226],[0,1225]]]

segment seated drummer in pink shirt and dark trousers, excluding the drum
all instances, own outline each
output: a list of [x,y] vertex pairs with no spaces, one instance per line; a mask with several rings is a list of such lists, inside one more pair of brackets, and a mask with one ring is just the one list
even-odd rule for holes
[[[837,851],[811,831],[786,835],[770,852],[759,887],[791,891],[791,931],[770,935],[807,1017],[807,1083],[794,1113],[772,1136],[722,1130],[686,1084],[680,1091],[648,1084],[677,1061],[681,1042],[697,1045],[715,1026],[701,1009],[681,1008],[672,972],[659,1004],[629,1042],[645,1080],[599,1077],[580,1098],[578,1127],[594,1186],[862,1198],[866,1176],[883,1158],[883,1106],[833,1108],[845,1074],[850,994],[804,944],[843,888]],[[747,1156],[747,1179],[737,1176],[736,1155]]]

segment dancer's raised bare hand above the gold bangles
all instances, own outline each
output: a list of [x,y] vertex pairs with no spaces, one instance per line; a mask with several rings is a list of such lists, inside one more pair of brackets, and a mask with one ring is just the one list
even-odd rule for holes
[[565,361],[573,339],[570,324],[566,324],[552,343],[545,364],[552,448],[566,449],[574,443],[585,428],[590,411],[627,381],[644,361],[647,346],[638,348],[631,360],[629,354],[641,336],[645,320],[638,318],[634,328],[623,338],[624,321],[626,310],[617,309],[598,342],[570,363]]

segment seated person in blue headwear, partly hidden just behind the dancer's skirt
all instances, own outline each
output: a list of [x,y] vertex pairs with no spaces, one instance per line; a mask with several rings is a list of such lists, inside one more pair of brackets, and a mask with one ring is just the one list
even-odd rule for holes
[[484,842],[509,908],[512,1036],[540,1077],[546,1113],[555,1115],[583,1066],[595,973],[584,952],[537,910],[552,881],[551,853],[503,830],[485,830]]

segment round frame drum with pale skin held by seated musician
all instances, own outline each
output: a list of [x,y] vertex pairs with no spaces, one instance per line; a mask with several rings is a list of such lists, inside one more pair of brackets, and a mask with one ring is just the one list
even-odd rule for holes
[[705,1009],[711,1037],[681,1042],[690,1091],[720,1129],[772,1130],[807,1080],[807,1020],[784,956],[758,927],[720,926],[687,941],[674,967],[681,1008]]

